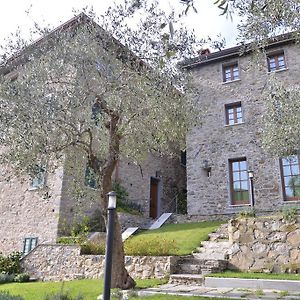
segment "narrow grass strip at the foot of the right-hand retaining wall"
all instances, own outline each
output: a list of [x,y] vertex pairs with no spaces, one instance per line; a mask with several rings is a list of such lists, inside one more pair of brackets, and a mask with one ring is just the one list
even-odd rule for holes
[[209,274],[207,277],[223,278],[245,278],[245,279],[278,279],[278,280],[300,280],[300,274],[270,274],[270,273],[243,273],[226,271],[223,273]]

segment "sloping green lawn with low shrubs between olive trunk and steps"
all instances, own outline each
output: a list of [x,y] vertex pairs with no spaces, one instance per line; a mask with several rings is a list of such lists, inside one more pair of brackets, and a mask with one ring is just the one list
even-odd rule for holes
[[143,231],[125,242],[126,254],[188,255],[221,224],[219,221],[167,224],[159,229]]

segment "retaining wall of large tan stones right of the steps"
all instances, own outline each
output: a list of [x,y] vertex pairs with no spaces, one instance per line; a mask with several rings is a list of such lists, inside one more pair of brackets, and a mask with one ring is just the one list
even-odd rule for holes
[[229,222],[229,267],[242,271],[300,273],[300,222],[282,217]]

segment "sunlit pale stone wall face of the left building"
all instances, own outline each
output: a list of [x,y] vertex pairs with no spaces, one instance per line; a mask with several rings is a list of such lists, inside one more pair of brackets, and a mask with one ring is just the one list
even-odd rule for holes
[[23,251],[25,237],[56,241],[62,173],[59,168],[48,174],[45,187],[32,190],[28,178],[19,179],[1,166],[0,252]]

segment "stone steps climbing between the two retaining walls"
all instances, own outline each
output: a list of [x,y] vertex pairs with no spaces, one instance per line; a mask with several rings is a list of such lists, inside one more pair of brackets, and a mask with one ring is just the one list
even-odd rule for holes
[[228,227],[223,224],[209,235],[209,240],[189,256],[177,261],[169,283],[195,284],[203,280],[203,275],[222,272],[227,268],[231,244],[228,241]]

